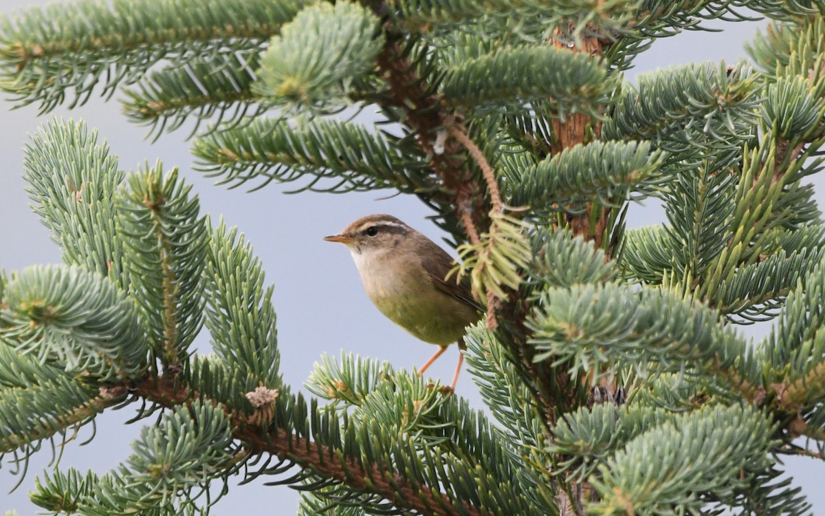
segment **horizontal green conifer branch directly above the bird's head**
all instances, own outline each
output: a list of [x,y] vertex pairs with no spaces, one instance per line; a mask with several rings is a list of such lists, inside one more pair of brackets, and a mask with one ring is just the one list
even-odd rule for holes
[[[200,136],[192,152],[200,170],[223,175],[220,183],[233,187],[256,178],[263,179],[259,187],[309,178],[293,192],[394,187],[425,194],[436,189],[431,169],[417,156],[415,145],[403,146],[354,122],[319,117],[293,127],[282,118],[259,116],[247,125]],[[331,180],[331,185],[322,180]]]

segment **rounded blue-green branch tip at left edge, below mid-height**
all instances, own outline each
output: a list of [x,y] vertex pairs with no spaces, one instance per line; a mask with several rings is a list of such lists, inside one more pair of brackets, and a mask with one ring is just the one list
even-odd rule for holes
[[146,366],[134,301],[85,267],[27,267],[8,284],[4,301],[0,339],[17,353],[99,381],[139,377]]

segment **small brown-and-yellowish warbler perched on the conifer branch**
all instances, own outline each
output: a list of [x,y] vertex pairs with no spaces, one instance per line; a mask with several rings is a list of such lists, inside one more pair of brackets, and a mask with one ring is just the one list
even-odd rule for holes
[[[367,215],[328,242],[347,246],[370,300],[389,320],[439,350],[418,371],[421,376],[451,343],[464,349],[464,327],[483,308],[466,283],[447,281],[453,258],[423,234],[390,215]],[[450,386],[455,389],[464,355]]]

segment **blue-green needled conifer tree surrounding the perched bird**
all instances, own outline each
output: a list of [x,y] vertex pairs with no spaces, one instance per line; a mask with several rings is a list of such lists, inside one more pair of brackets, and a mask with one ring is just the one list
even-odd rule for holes
[[[742,7],[771,19],[752,64],[623,81],[654,39]],[[38,476],[41,507],[196,514],[240,475],[298,487],[299,514],[809,514],[779,477],[825,453],[825,229],[803,184],[823,2],[78,0],[2,18],[0,45],[16,105],[120,89],[155,137],[203,122],[191,150],[225,184],[417,196],[486,310],[465,338],[486,410],[347,354],[295,394],[243,234],[175,170],[127,175],[96,131],[46,122],[27,193],[64,264],[0,279],[0,451],[25,464],[125,405],[145,428],[105,475]],[[667,223],[626,230],[648,197]],[[191,350],[201,331],[214,353]]]

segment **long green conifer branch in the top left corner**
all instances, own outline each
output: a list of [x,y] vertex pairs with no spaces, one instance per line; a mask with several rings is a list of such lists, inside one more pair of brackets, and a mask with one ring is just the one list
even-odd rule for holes
[[163,59],[181,64],[260,48],[302,7],[301,0],[140,0],[138,6],[79,0],[30,7],[0,20],[0,88],[21,105],[40,102],[42,112],[73,88],[74,107],[100,83],[111,95]]

